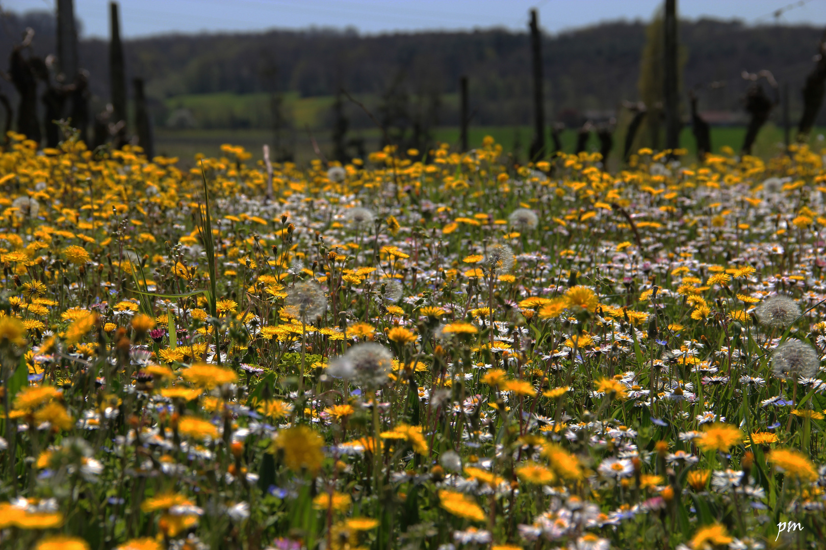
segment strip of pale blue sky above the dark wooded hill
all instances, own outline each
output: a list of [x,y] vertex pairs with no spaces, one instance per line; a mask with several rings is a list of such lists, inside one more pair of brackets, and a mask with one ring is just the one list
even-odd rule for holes
[[[84,35],[108,34],[107,0],[75,0]],[[472,29],[504,26],[522,30],[531,7],[539,7],[546,31],[617,19],[648,19],[661,0],[121,0],[127,37],[167,32],[262,31],[271,28],[354,27],[363,33]],[[771,23],[778,8],[792,7],[778,21],[826,26],[826,0],[678,0],[681,16],[738,18]],[[0,0],[15,12],[52,10],[55,0]]]

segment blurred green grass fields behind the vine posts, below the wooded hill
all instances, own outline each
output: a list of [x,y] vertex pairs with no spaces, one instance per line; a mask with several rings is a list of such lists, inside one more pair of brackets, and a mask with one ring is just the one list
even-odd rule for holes
[[[375,111],[380,98],[375,95],[363,94],[357,96],[369,109]],[[307,162],[316,157],[311,147],[311,140],[307,128],[323,153],[330,153],[330,125],[332,124],[331,108],[335,96],[301,97],[297,92],[288,92],[282,95],[282,113],[287,117],[292,131],[284,134],[287,148],[292,150],[297,162]],[[345,100],[346,101],[346,100]],[[443,94],[441,96],[444,108],[455,109],[458,103],[457,94]],[[192,163],[196,153],[215,156],[220,153],[221,143],[242,145],[254,154],[255,159],[261,158],[263,143],[273,145],[273,132],[267,129],[272,119],[271,96],[268,93],[235,94],[212,93],[173,96],[164,101],[166,110],[171,113],[176,109],[184,108],[192,113],[197,129],[169,129],[167,120],[158,120],[155,130],[158,153],[173,157],[180,157],[184,163]],[[352,119],[358,106],[346,102],[346,113]],[[362,116],[362,115],[359,115]],[[620,116],[620,119],[624,117]],[[627,124],[627,121],[624,122]],[[615,132],[615,143],[609,158],[609,167],[616,169],[621,164],[622,149],[624,148],[624,125],[619,125]],[[729,146],[739,151],[743,146],[743,137],[746,129],[743,126],[714,127],[711,134],[711,143],[714,151],[723,146]],[[826,129],[815,129],[811,143],[815,145],[818,134],[826,133]],[[458,127],[439,127],[434,129],[434,139],[458,146]],[[525,162],[530,142],[533,139],[533,129],[528,125],[511,126],[471,126],[469,130],[469,145],[471,148],[482,144],[486,135],[493,136],[497,143],[501,143],[507,153],[513,153],[519,162]],[[361,138],[365,142],[368,152],[375,150],[381,134],[375,128],[354,129],[348,138]],[[562,136],[563,150],[573,153],[577,141],[575,129],[568,129]],[[794,139],[794,131],[792,131]],[[551,143],[550,136],[547,138]],[[757,137],[757,143],[752,153],[758,157],[771,157],[782,151],[783,132],[774,124],[767,124]],[[691,128],[686,127],[681,133],[681,146],[688,149],[691,162],[695,157],[695,142]],[[597,151],[600,148],[596,133],[591,133],[587,149]]]

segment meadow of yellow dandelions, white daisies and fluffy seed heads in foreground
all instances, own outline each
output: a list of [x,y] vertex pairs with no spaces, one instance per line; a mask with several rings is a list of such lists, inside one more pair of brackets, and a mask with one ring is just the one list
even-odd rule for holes
[[792,145],[0,153],[0,547],[823,548]]

